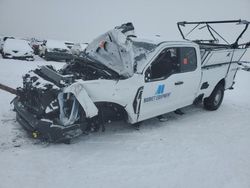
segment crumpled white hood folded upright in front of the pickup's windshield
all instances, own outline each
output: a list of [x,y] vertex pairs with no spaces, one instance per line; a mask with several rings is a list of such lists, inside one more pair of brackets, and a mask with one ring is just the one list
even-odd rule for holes
[[123,24],[93,40],[86,54],[123,76],[133,75],[132,42],[127,36],[134,34],[132,23]]

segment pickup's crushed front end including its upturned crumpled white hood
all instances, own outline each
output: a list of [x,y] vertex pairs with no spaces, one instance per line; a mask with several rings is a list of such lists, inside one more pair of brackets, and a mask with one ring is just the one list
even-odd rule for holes
[[113,84],[133,75],[134,53],[128,37],[133,31],[131,23],[123,24],[95,39],[81,58],[61,70],[42,66],[26,74],[14,99],[17,121],[33,137],[65,142],[83,132],[104,130],[111,119],[126,119],[124,106],[92,101],[88,93],[99,91],[85,86],[89,80]]

